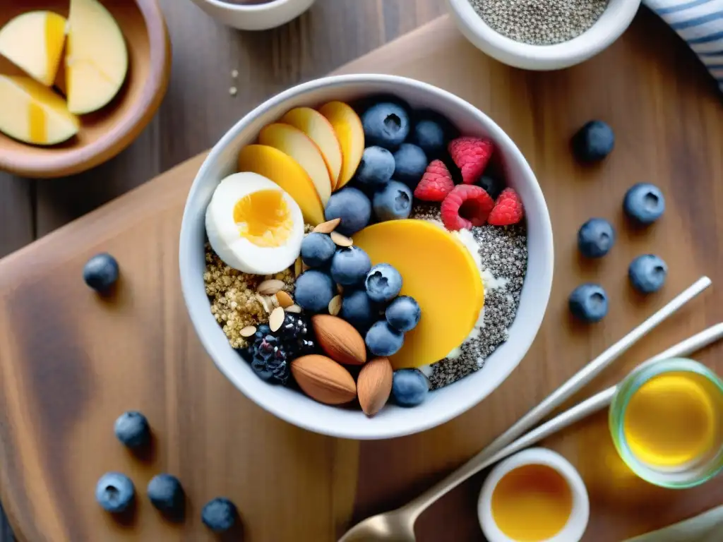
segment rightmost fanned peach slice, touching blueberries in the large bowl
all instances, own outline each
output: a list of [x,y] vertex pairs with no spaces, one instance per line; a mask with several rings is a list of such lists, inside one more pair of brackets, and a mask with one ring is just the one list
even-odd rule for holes
[[319,108],[319,113],[331,123],[341,145],[341,173],[335,186],[338,190],[351,181],[361,162],[361,155],[364,153],[364,129],[361,127],[359,115],[346,103],[326,103]]

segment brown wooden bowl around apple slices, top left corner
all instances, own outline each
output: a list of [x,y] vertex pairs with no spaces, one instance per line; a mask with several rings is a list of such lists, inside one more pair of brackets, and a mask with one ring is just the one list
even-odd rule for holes
[[[0,169],[36,178],[88,170],[130,145],[161,105],[171,74],[171,42],[158,0],[101,3],[116,18],[126,39],[129,70],[123,87],[106,107],[83,115],[80,132],[60,145],[28,145],[0,133]],[[35,9],[49,9],[67,17],[69,0],[2,0],[0,26]],[[0,73],[22,72],[0,56]]]

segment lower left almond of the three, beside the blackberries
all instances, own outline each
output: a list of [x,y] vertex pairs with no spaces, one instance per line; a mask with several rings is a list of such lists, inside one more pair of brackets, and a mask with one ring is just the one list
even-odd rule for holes
[[291,374],[301,390],[319,403],[341,405],[356,397],[356,384],[349,371],[326,356],[296,358],[291,362]]

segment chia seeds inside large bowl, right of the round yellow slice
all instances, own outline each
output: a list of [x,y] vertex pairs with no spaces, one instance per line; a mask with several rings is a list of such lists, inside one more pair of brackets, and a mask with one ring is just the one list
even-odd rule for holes
[[[441,225],[440,207],[415,205],[411,218],[432,220]],[[455,352],[427,366],[432,390],[448,386],[484,367],[484,361],[509,337],[520,304],[527,271],[527,236],[524,223],[500,228],[484,225],[472,228],[478,244],[484,282],[482,323]],[[479,324],[479,322],[478,322]]]

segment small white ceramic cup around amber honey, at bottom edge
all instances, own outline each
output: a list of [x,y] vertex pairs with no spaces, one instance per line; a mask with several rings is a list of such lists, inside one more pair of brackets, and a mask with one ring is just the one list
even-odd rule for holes
[[482,526],[485,538],[489,542],[517,542],[513,538],[502,533],[497,527],[495,518],[492,516],[492,494],[497,489],[500,480],[518,467],[525,465],[545,465],[560,473],[562,478],[570,486],[573,494],[573,509],[565,527],[552,538],[544,542],[578,542],[583,538],[585,529],[590,519],[590,499],[583,479],[573,465],[557,452],[547,448],[530,448],[519,452],[499,463],[484,481],[482,491],[479,494],[477,514],[479,525]]

